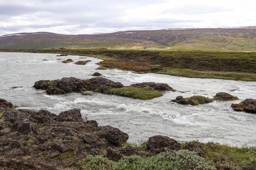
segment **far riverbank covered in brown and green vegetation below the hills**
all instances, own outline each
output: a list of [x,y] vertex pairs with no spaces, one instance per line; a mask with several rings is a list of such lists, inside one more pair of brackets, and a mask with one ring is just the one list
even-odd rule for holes
[[255,52],[44,49],[9,52],[67,53],[100,58],[103,68],[138,73],[155,72],[182,77],[256,81]]

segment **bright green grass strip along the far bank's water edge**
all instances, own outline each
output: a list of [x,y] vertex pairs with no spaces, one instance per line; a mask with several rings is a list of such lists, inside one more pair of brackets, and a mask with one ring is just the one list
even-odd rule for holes
[[164,68],[158,73],[189,78],[256,81],[256,74],[252,73],[196,71],[183,68]]

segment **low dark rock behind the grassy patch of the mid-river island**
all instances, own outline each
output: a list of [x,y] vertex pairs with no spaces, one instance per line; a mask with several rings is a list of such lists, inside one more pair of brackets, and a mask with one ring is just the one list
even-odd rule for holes
[[164,83],[152,83],[152,82],[144,82],[130,85],[131,87],[151,87],[154,90],[158,91],[175,91],[172,87]]

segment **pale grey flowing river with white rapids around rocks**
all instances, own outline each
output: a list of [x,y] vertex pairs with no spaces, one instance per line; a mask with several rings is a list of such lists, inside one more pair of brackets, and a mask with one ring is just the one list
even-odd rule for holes
[[[137,74],[118,69],[96,70],[99,67],[97,63],[101,60],[79,57],[81,56],[0,52],[0,98],[12,102],[20,109],[46,109],[56,114],[79,108],[83,117],[97,120],[99,125],[111,125],[126,132],[130,136],[130,142],[138,143],[150,136],[164,135],[178,141],[214,141],[233,146],[256,144],[256,114],[235,112],[231,108],[232,103],[256,98],[256,82]],[[86,65],[63,64],[61,61],[67,58],[91,62]],[[33,88],[34,83],[39,80],[62,77],[89,79],[96,71],[102,77],[123,85],[167,83],[186,93],[168,91],[162,97],[143,101],[101,93],[93,93],[93,96],[82,96],[80,93],[47,95],[44,91]],[[170,102],[179,95],[213,97],[217,92],[230,93],[240,100],[199,106]]]

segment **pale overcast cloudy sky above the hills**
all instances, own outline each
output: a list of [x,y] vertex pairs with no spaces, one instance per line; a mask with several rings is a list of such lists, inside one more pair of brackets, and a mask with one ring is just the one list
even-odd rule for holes
[[256,0],[0,0],[0,35],[256,26]]

